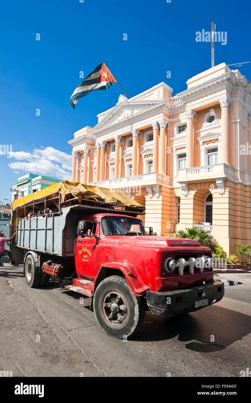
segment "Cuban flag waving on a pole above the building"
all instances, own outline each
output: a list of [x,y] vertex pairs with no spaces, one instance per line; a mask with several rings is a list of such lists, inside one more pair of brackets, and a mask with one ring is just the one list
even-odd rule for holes
[[107,65],[105,63],[99,64],[75,89],[71,96],[71,106],[75,109],[75,104],[77,104],[79,98],[90,94],[92,91],[97,91],[98,89],[110,88],[113,83],[117,83],[117,80],[113,77]]

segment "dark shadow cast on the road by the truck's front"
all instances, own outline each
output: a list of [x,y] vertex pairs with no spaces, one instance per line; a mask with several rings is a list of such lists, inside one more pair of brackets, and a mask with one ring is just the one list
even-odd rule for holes
[[[215,304],[198,312],[169,319],[146,312],[142,327],[130,340],[163,341],[178,336],[179,341],[188,342],[187,349],[198,351],[198,344],[210,343],[212,335],[215,343],[229,346],[242,340],[250,331],[251,322],[248,315]],[[199,343],[195,343],[195,340]]]

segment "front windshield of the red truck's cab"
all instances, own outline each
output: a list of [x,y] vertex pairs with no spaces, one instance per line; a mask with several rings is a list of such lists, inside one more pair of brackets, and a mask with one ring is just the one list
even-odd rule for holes
[[138,233],[146,235],[142,221],[131,217],[105,217],[101,220],[104,235],[125,235]]

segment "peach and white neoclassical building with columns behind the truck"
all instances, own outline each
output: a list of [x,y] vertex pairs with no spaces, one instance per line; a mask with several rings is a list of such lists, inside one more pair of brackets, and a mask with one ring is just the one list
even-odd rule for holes
[[199,226],[231,253],[251,240],[251,85],[225,63],[186,84],[121,95],[74,133],[72,180],[126,191],[157,235]]

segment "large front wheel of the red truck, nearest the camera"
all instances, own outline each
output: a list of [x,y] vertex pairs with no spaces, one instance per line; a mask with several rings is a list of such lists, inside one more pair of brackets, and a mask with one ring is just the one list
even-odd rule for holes
[[125,339],[140,328],[145,315],[141,297],[135,295],[125,278],[105,278],[94,293],[93,308],[100,328],[109,336]]

